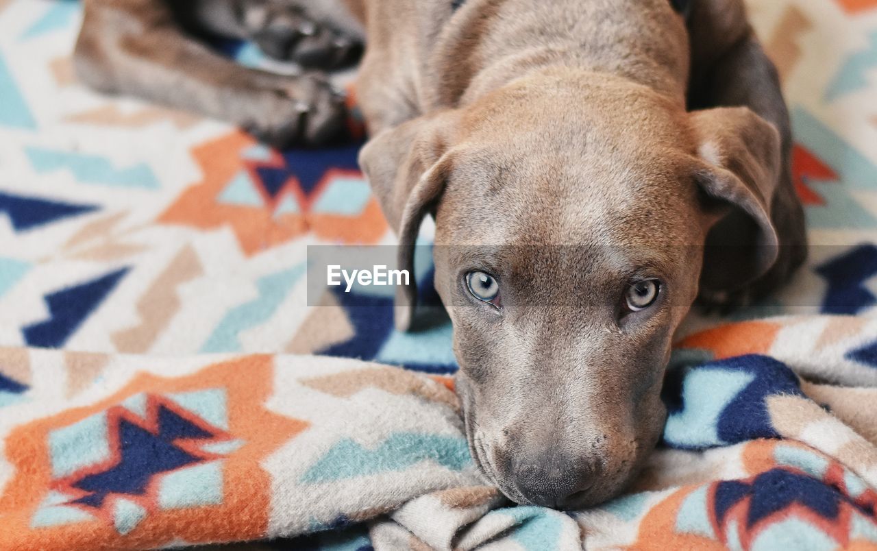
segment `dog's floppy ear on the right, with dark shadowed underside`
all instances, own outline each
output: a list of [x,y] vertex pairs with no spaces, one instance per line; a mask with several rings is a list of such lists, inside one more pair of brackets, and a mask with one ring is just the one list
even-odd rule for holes
[[708,220],[701,287],[737,290],[764,275],[779,254],[771,208],[782,168],[780,132],[745,107],[690,118],[700,144],[695,181],[709,203],[724,207]]

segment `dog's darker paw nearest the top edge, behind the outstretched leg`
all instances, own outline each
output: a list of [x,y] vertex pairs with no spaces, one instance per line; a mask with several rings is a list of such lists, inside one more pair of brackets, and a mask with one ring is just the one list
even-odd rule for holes
[[318,24],[293,7],[269,11],[260,29],[253,32],[253,41],[276,60],[324,70],[352,65],[363,48],[359,40]]

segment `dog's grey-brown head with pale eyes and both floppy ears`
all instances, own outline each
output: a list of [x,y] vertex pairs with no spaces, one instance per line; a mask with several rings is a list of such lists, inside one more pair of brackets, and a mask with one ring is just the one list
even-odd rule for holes
[[[570,75],[365,148],[404,264],[435,215],[467,438],[503,493],[578,507],[630,481],[660,437],[674,330],[701,282],[745,283],[774,261],[779,156],[777,132],[749,111],[692,115],[649,89]],[[711,240],[736,253],[721,276],[702,274]]]

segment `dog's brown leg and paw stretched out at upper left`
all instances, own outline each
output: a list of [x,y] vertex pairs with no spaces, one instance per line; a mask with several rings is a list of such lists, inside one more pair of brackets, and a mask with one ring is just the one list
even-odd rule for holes
[[82,81],[241,125],[276,146],[317,145],[345,106],[321,75],[241,67],[186,36],[160,0],[89,0],[75,49]]

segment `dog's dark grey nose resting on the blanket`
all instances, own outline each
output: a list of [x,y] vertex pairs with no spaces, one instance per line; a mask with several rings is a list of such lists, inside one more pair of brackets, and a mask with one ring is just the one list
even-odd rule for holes
[[511,476],[517,490],[531,504],[565,509],[581,501],[599,470],[594,462],[553,455],[540,462],[514,461]]

